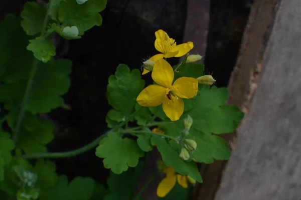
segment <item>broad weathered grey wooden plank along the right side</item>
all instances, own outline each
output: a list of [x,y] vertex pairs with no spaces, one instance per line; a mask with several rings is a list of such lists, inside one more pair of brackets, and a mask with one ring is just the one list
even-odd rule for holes
[[301,199],[301,0],[281,0],[216,200]]

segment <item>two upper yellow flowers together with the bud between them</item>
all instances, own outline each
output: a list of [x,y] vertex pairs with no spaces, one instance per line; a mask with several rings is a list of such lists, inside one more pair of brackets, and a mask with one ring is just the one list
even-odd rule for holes
[[141,106],[163,104],[166,115],[176,121],[184,112],[182,98],[193,98],[197,94],[198,80],[193,77],[180,77],[174,81],[174,69],[164,58],[185,55],[193,48],[193,42],[177,45],[163,30],[156,31],[155,35],[155,48],[161,53],[144,62],[142,74],[152,70],[152,78],[157,84],[145,87],[136,100]]

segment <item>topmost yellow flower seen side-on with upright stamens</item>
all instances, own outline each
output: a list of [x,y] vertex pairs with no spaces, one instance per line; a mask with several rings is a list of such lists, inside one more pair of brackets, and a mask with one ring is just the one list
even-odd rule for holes
[[[154,62],[156,62],[158,59],[162,59],[163,57],[181,57],[193,48],[192,41],[177,45],[175,39],[169,37],[169,35],[162,29],[156,31],[155,35],[155,48],[161,53],[149,58]],[[143,69],[142,74],[147,72],[149,72],[149,70]]]

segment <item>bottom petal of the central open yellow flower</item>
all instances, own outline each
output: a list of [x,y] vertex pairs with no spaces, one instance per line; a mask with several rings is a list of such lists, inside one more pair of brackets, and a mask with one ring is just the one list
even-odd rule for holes
[[176,121],[184,112],[184,102],[180,97],[171,96],[172,100],[165,97],[163,101],[163,111],[172,121]]

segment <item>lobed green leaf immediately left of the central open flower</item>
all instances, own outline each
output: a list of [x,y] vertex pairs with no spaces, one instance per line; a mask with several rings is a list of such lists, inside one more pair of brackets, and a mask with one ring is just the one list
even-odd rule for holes
[[[136,98],[143,87],[144,80],[141,79],[140,71],[134,69],[130,72],[125,64],[120,64],[116,69],[115,75],[109,77],[106,95],[109,104],[116,110],[114,111],[114,116],[116,116],[117,120],[120,121],[121,116],[123,118],[133,112]],[[117,112],[119,113],[117,114]],[[107,118],[114,121],[114,117],[108,116]]]

